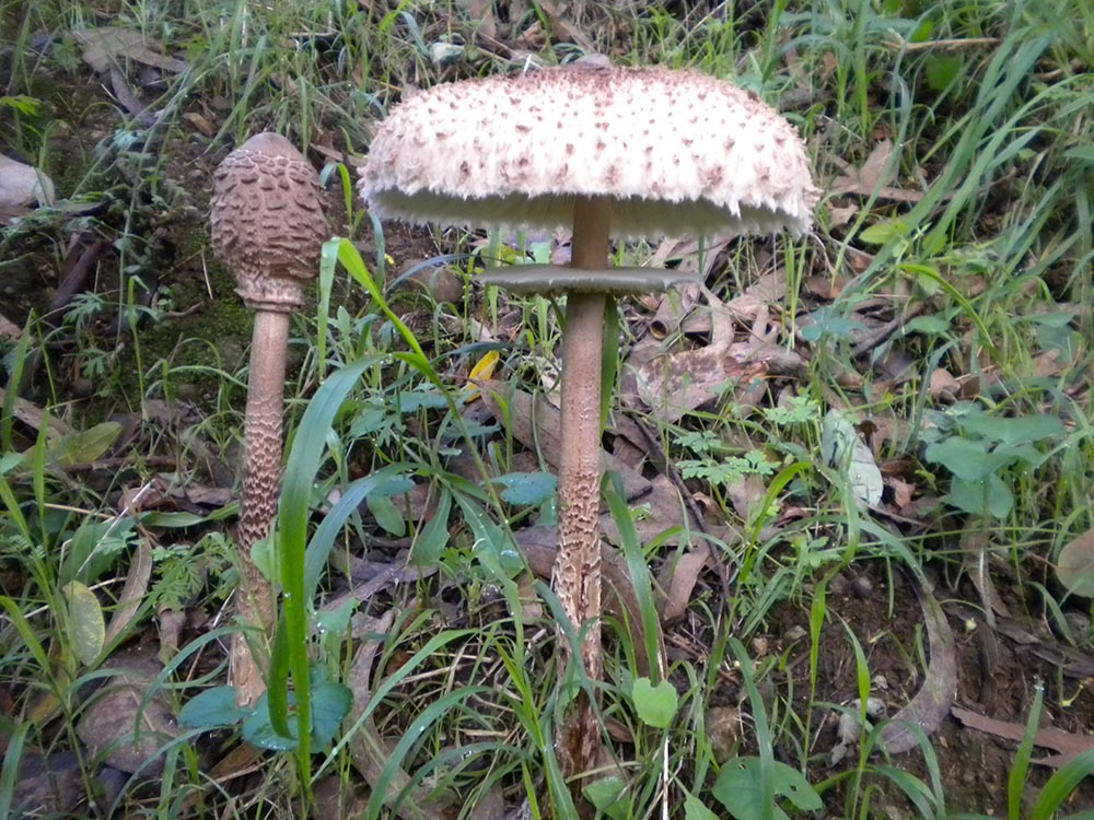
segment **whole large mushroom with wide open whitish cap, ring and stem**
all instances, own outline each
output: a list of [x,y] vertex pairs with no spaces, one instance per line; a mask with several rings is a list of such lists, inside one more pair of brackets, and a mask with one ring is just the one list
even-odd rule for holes
[[[484,278],[567,296],[554,583],[584,630],[582,663],[597,680],[605,301],[678,278],[608,268],[609,238],[801,234],[816,197],[804,145],[755,94],[696,71],[544,69],[407,98],[376,132],[360,190],[380,216],[573,231],[569,268],[520,266]],[[558,738],[563,771],[593,768],[600,738],[592,704],[579,702]]]

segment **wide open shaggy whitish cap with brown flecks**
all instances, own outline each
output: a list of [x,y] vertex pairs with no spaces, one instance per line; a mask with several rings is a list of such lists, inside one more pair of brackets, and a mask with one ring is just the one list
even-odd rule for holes
[[360,192],[380,216],[569,227],[613,199],[613,236],[800,234],[805,147],[758,96],[693,70],[542,69],[438,85],[393,109]]

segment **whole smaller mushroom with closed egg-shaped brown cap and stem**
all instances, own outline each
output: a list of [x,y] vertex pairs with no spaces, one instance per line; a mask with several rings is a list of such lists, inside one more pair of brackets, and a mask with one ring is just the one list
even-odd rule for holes
[[[235,276],[236,293],[255,311],[244,419],[241,500],[241,620],[269,635],[274,591],[251,557],[269,536],[281,483],[281,405],[293,311],[304,305],[304,285],[318,272],[329,238],[315,168],[276,133],[252,137],[217,168],[209,230],[213,249]],[[230,671],[241,704],[265,690],[263,668],[246,636],[232,641]]]

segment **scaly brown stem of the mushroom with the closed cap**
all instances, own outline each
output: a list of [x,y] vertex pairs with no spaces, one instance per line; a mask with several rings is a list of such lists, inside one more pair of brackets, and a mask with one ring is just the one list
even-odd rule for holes
[[[281,484],[281,406],[284,401],[286,351],[290,316],[283,311],[256,311],[251,340],[247,409],[244,417],[243,497],[240,502],[240,587],[236,611],[263,642],[276,620],[274,590],[251,555],[269,537]],[[268,646],[232,639],[232,683],[241,704],[254,703],[265,691]],[[258,660],[261,658],[263,660]]]

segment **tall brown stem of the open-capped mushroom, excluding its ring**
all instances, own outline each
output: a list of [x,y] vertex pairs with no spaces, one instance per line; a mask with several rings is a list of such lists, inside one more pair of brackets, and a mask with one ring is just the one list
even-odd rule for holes
[[[600,269],[608,255],[612,204],[604,197],[579,198],[574,208],[571,267]],[[601,679],[601,372],[604,348],[603,293],[567,294],[562,336],[561,459],[558,469],[558,561],[555,590],[574,630],[585,630],[581,661]],[[559,632],[559,675],[570,645]],[[567,776],[595,768],[601,730],[592,702],[579,695],[566,716],[559,762]]]

